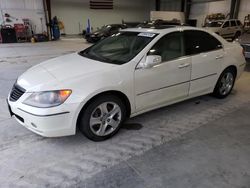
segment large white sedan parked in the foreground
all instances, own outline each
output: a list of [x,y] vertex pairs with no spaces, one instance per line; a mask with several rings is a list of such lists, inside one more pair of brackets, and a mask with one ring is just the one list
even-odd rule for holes
[[113,136],[128,117],[213,93],[228,96],[245,67],[242,47],[193,27],[126,29],[21,75],[9,110],[45,136]]

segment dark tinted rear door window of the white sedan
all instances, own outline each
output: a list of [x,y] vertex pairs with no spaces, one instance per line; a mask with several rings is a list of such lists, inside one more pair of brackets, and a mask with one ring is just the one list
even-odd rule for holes
[[222,48],[221,43],[207,32],[184,31],[186,55],[199,54]]

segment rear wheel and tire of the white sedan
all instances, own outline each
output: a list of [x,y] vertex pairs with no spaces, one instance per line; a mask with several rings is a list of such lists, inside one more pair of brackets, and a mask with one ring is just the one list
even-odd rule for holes
[[217,81],[213,95],[217,98],[223,99],[227,97],[235,83],[236,72],[232,68],[227,68],[224,70]]

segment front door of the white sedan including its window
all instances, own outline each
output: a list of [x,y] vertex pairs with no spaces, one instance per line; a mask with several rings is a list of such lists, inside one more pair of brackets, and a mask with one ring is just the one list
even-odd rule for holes
[[[160,55],[162,63],[135,70],[137,112],[162,106],[188,96],[191,57],[185,57],[182,32],[162,37],[147,55]],[[144,63],[142,60],[141,63]]]

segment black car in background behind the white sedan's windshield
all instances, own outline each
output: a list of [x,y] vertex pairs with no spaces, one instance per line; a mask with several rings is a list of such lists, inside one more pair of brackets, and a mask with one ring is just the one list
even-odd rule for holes
[[120,29],[125,29],[125,28],[127,28],[125,24],[105,25],[101,29],[98,29],[97,31],[86,33],[85,39],[90,43],[95,43],[101,39],[116,34],[120,31]]

